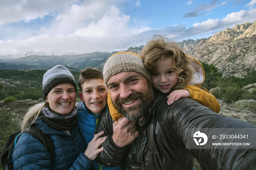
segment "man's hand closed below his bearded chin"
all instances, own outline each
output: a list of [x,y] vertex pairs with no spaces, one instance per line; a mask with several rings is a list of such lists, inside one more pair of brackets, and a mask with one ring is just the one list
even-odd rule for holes
[[135,121],[129,121],[126,117],[120,123],[116,121],[113,123],[112,139],[117,147],[125,147],[139,136],[135,124]]

